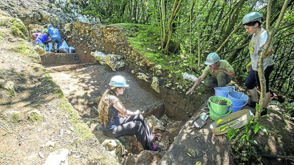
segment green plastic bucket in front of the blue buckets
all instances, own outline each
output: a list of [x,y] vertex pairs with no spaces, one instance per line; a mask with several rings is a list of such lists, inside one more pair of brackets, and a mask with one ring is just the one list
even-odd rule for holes
[[[216,103],[225,102],[227,105],[219,105]],[[222,115],[227,114],[229,111],[232,111],[233,104],[230,99],[221,97],[221,96],[212,96],[208,99],[207,105],[209,109],[213,110],[216,114]]]

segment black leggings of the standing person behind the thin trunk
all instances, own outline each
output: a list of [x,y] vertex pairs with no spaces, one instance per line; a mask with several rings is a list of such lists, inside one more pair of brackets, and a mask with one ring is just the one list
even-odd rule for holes
[[[266,92],[269,92],[269,76],[270,73],[274,70],[274,65],[267,66],[266,69],[264,70],[264,77],[265,77],[265,85],[266,85]],[[258,73],[255,70],[250,70],[250,72],[247,75],[245,85],[247,89],[254,89],[255,83],[257,82],[258,87],[260,89],[260,82],[259,82],[259,77]]]

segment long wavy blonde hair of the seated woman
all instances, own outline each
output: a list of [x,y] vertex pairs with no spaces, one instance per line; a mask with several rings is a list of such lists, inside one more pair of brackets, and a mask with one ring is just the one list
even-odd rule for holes
[[[110,103],[108,95],[113,95],[113,96],[117,97],[116,92],[115,92],[117,90],[117,88],[119,88],[119,87],[111,87],[110,89],[107,89],[103,93],[103,95],[99,101],[99,104],[98,104],[99,120],[100,120],[100,123],[104,127],[106,126],[106,123],[107,123],[109,108],[112,105]],[[119,98],[118,98],[118,100],[119,100]]]

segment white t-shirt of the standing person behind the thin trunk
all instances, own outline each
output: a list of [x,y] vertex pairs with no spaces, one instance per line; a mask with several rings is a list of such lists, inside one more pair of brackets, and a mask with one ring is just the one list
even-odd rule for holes
[[[251,58],[251,66],[252,69],[257,71],[257,61],[259,57],[259,52],[262,51],[263,45],[265,44],[267,39],[267,32],[265,29],[261,29],[261,32],[258,35],[255,33],[252,35],[251,41],[249,43],[249,53]],[[263,60],[263,70],[266,69],[267,66],[275,64],[273,60],[274,54],[270,55],[270,57],[265,58]]]

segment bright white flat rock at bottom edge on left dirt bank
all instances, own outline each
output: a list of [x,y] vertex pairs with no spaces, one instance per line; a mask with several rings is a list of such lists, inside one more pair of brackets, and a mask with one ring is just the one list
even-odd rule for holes
[[66,148],[62,148],[51,152],[47,157],[44,165],[52,165],[52,164],[69,164],[69,153],[70,150]]

